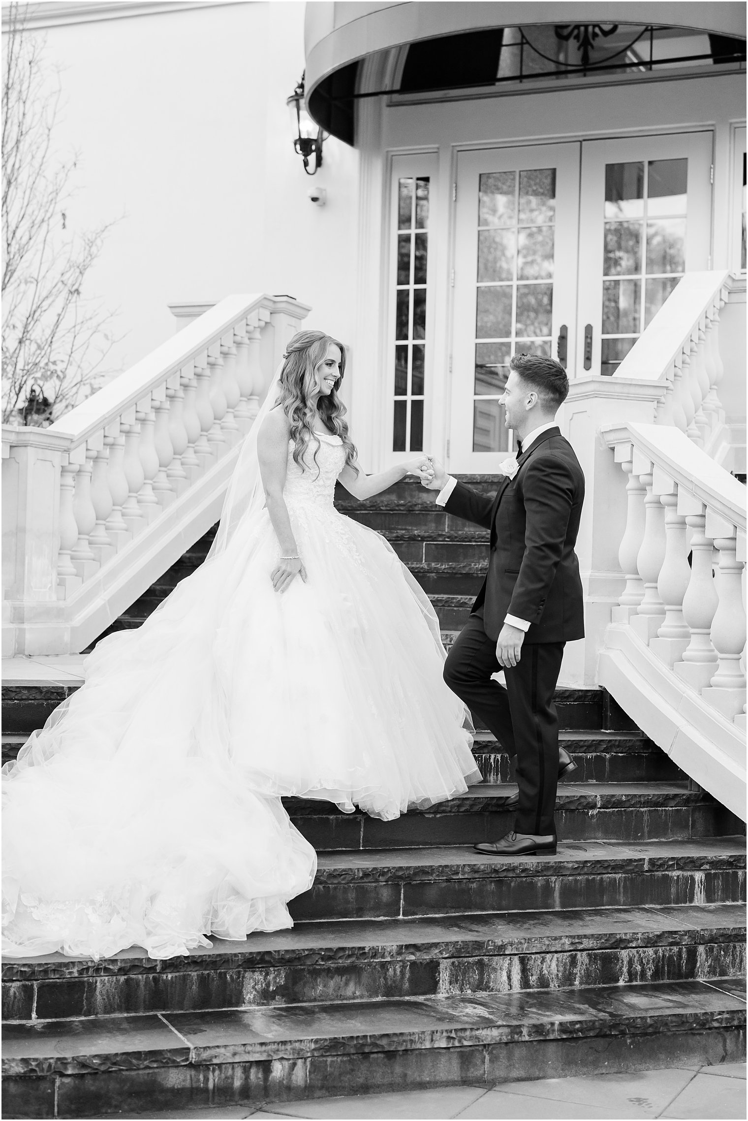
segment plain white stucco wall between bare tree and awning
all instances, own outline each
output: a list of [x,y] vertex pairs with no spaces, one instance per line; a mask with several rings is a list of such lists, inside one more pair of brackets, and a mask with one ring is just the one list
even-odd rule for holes
[[286,99],[303,70],[303,3],[32,34],[59,68],[59,146],[81,154],[68,228],[119,219],[88,281],[118,309],[113,369],[174,333],[168,304],[239,291],[288,293],[312,305],[308,325],[350,339],[358,157],[330,139],[312,180],[293,151]]

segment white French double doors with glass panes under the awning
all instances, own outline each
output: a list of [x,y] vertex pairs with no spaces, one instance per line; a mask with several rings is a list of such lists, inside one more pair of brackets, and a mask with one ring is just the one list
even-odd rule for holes
[[449,469],[514,445],[509,358],[611,374],[685,271],[710,267],[711,132],[460,151]]

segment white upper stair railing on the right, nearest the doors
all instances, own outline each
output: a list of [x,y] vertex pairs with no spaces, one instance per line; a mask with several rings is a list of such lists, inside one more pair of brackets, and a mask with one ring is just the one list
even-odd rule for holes
[[686,272],[613,376],[662,383],[655,423],[680,428],[712,455],[723,443],[719,315],[730,286],[729,272]]

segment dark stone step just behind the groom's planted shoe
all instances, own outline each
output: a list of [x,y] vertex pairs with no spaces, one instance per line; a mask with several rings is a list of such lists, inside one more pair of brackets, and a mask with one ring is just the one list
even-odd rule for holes
[[[514,827],[503,800],[513,782],[480,784],[430,809],[417,807],[394,821],[361,810],[345,814],[328,802],[283,798],[291,821],[318,852],[471,845],[495,841]],[[700,789],[668,782],[561,782],[555,825],[564,841],[664,841],[729,836],[742,823]]]

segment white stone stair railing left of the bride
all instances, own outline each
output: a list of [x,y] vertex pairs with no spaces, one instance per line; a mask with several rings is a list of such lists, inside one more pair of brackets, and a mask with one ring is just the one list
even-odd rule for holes
[[209,529],[308,312],[228,296],[50,427],[2,426],[4,656],[82,650]]

